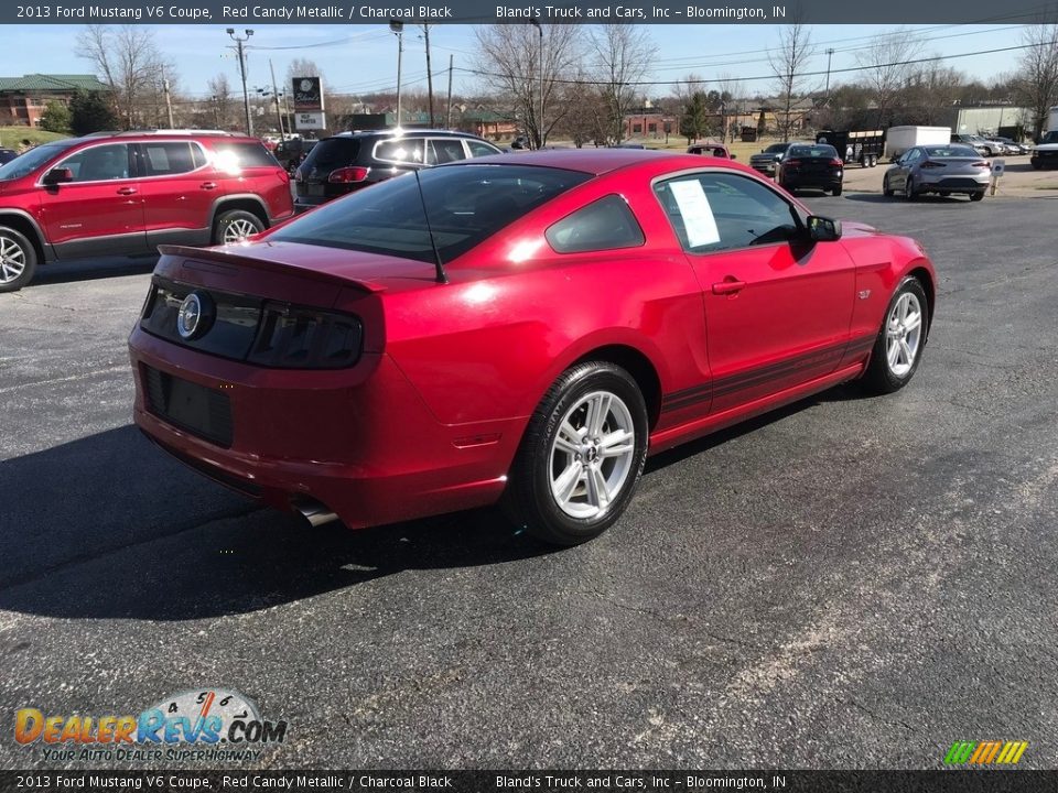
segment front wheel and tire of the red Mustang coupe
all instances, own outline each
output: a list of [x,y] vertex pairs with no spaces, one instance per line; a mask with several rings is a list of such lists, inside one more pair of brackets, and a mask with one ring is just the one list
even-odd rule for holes
[[885,312],[885,322],[871,352],[863,383],[875,393],[893,393],[907,385],[922,357],[929,326],[926,292],[918,279],[900,282]]

